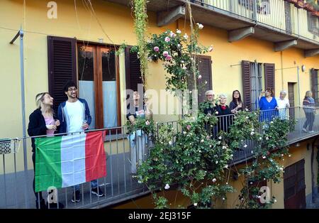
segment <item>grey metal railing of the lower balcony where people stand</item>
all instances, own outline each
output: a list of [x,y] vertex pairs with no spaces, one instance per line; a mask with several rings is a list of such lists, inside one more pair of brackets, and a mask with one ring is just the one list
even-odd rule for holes
[[[306,114],[303,107],[292,107],[281,111],[267,111],[261,115],[263,119],[272,119],[273,116],[281,116],[287,119],[296,119],[296,128],[289,133],[289,143],[296,143],[306,138],[311,138],[319,134],[319,114],[315,114],[313,122],[313,132],[303,131],[303,124],[306,121]],[[218,125],[213,128],[213,135],[216,136],[218,131],[227,131],[233,115],[219,116]],[[262,118],[261,118],[262,119]],[[177,121],[164,123],[172,126],[177,131],[181,131],[181,127]],[[223,124],[223,125],[222,125]],[[159,124],[158,124],[159,125]],[[158,133],[155,131],[155,134]],[[151,149],[151,141],[137,141],[135,148],[131,148],[128,135],[125,134],[125,127],[113,129],[105,129],[108,133],[105,141],[106,172],[105,178],[98,179],[99,185],[105,192],[104,197],[96,197],[90,192],[90,183],[80,185],[81,195],[80,202],[71,202],[73,187],[65,187],[57,190],[57,200],[65,205],[65,208],[98,208],[107,205],[113,205],[117,202],[129,200],[133,197],[146,194],[148,191],[138,183],[138,179],[132,178],[132,163],[134,156],[136,160],[139,157],[147,156],[147,150]],[[112,131],[111,131],[112,130]],[[116,132],[111,135],[111,132]],[[118,133],[118,134],[117,134]],[[121,134],[120,134],[121,133]],[[30,159],[31,153],[27,153],[29,169],[24,168],[23,149],[18,149],[18,141],[26,140],[30,148],[30,137],[27,138],[9,138],[0,141],[0,208],[35,208],[35,195],[33,193],[33,168]],[[140,143],[140,144],[139,144]],[[174,143],[174,142],[173,142]],[[246,148],[240,148],[234,151],[232,163],[240,163],[252,156],[253,144],[246,142]],[[145,147],[144,154],[140,154],[139,146]],[[11,150],[9,149],[11,148]],[[133,153],[134,152],[134,153]],[[43,192],[45,198],[47,192]]]

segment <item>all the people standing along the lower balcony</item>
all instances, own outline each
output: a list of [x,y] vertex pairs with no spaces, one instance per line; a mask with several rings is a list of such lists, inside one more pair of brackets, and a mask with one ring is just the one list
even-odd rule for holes
[[[85,99],[77,97],[77,85],[69,81],[64,86],[64,92],[67,95],[67,101],[62,102],[58,108],[57,116],[53,112],[53,98],[48,92],[37,94],[35,102],[37,109],[30,114],[28,124],[29,136],[54,136],[55,132],[59,134],[74,134],[88,130],[91,124],[91,115],[89,106]],[[258,107],[262,112],[261,121],[269,121],[274,116],[279,116],[281,119],[288,119],[289,115],[287,109],[290,107],[289,100],[286,99],[286,91],[280,92],[280,97],[275,99],[272,89],[267,88],[259,95]],[[245,109],[245,104],[242,102],[240,92],[233,91],[233,99],[229,106],[227,105],[227,96],[220,94],[218,103],[216,104],[215,93],[213,90],[206,92],[206,101],[203,112],[205,114],[216,114],[218,116],[218,124],[213,127],[213,134],[216,136],[218,131],[228,131],[228,126],[232,124],[233,119],[230,118],[232,114],[240,112]],[[126,118],[131,124],[135,123],[137,117],[152,119],[152,110],[148,104],[148,97],[144,95],[144,102],[140,101],[138,92],[133,94],[133,104],[128,106],[128,114]],[[306,114],[306,122],[303,125],[303,131],[312,133],[313,122],[315,119],[315,100],[312,98],[310,91],[306,92],[303,99],[303,110]],[[309,131],[307,130],[309,129]],[[131,172],[136,173],[136,163],[144,160],[146,154],[145,144],[147,143],[147,136],[142,131],[135,131],[129,136],[131,146]],[[33,169],[35,170],[35,138],[32,138],[32,161]],[[35,182],[33,180],[33,190],[35,191]],[[73,188],[72,202],[80,201],[79,185]],[[101,197],[104,196],[103,190],[99,187],[97,180],[91,181],[91,193]],[[35,203],[37,208],[46,208],[45,200],[41,192],[35,192]],[[55,207],[56,204],[51,204]],[[59,204],[60,208],[63,207]]]

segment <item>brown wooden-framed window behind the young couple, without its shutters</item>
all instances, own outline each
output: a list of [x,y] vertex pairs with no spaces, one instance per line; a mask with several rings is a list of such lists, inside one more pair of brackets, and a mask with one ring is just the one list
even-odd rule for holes
[[115,49],[105,45],[77,45],[79,97],[86,99],[91,128],[121,126]]

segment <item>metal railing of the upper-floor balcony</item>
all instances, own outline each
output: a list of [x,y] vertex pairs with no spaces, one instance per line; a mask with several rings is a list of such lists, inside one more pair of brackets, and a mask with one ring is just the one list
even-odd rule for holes
[[[193,0],[194,4],[267,26],[281,33],[319,42],[318,21],[306,9],[284,0]],[[318,19],[317,19],[318,20]]]

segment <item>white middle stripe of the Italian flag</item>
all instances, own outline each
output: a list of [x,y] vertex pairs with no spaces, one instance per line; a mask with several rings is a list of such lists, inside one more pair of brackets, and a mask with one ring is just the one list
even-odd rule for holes
[[85,183],[85,138],[86,134],[62,136],[61,173],[62,187]]

